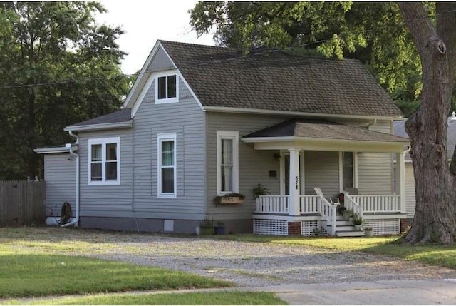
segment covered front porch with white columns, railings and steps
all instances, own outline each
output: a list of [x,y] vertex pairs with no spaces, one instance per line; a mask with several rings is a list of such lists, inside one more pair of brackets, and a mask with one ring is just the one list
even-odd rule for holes
[[343,218],[341,206],[363,218],[364,228],[373,228],[375,235],[400,233],[406,214],[405,138],[294,119],[242,141],[280,154],[280,194],[256,199],[254,233],[363,235]]

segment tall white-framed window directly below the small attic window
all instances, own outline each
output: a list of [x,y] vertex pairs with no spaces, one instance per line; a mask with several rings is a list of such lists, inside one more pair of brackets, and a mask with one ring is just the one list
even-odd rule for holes
[[158,134],[158,192],[160,198],[176,198],[176,133]]

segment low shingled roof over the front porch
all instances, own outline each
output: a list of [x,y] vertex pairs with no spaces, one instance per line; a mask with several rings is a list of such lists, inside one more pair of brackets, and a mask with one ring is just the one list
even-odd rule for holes
[[407,142],[407,138],[370,131],[367,128],[346,126],[323,119],[294,118],[243,138],[261,137],[306,137],[349,141]]

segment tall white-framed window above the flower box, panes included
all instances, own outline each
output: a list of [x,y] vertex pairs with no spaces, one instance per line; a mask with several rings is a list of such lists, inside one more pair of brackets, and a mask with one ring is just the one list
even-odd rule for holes
[[217,195],[239,192],[239,132],[217,131]]

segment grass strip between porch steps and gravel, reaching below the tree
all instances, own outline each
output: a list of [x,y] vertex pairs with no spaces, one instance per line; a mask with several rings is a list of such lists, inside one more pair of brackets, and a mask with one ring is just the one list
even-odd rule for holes
[[440,265],[456,269],[456,244],[452,245],[403,245],[399,236],[371,238],[332,238],[332,237],[278,237],[263,235],[220,235],[219,239],[249,241],[257,243],[281,243],[323,248],[341,252],[367,252],[400,257],[430,265]]

